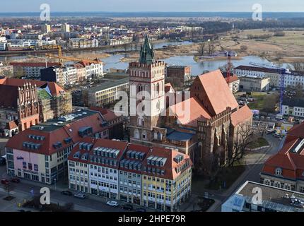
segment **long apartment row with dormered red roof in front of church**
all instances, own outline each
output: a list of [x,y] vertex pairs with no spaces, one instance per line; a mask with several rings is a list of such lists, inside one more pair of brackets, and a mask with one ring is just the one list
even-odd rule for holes
[[69,155],[69,188],[174,211],[191,194],[191,167],[177,150],[83,138]]

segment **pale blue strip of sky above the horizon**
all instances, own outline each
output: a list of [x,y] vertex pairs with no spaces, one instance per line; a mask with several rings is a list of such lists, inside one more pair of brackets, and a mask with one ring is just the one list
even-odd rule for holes
[[38,12],[41,4],[51,11],[108,12],[248,12],[261,4],[264,12],[304,12],[303,0],[1,0],[0,13]]

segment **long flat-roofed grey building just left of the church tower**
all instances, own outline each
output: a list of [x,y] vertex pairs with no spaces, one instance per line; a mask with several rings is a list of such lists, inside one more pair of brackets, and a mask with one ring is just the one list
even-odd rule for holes
[[129,90],[129,78],[107,81],[101,85],[83,90],[83,104],[86,107],[103,107],[116,101],[118,91]]

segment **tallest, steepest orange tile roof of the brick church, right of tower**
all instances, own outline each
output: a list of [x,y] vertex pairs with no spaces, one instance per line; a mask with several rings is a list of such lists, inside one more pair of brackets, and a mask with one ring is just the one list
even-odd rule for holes
[[197,76],[190,92],[192,96],[199,95],[199,100],[211,114],[219,114],[227,107],[239,107],[220,70]]

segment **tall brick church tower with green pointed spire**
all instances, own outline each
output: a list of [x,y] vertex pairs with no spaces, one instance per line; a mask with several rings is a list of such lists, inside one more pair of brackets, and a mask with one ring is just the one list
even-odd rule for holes
[[148,145],[160,123],[165,104],[165,62],[156,61],[145,38],[138,62],[129,63],[130,141]]

